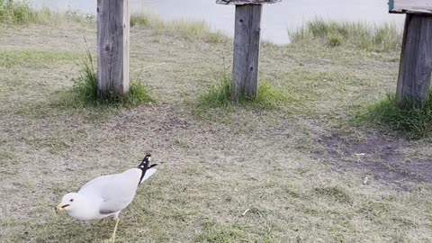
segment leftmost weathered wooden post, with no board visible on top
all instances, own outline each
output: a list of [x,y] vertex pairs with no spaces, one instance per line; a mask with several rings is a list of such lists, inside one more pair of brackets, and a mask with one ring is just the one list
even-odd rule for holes
[[97,88],[129,93],[129,0],[97,0]]

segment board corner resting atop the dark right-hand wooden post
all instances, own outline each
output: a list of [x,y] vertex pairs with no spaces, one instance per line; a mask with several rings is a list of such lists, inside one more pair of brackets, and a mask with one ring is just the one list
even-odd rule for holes
[[432,0],[390,0],[390,13],[432,14]]

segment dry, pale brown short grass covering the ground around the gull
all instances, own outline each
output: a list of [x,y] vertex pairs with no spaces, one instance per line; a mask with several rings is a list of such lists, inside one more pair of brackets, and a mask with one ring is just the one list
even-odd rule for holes
[[[371,128],[353,129],[348,121],[394,89],[397,53],[265,43],[261,76],[296,95],[296,102],[277,110],[197,111],[200,94],[215,84],[211,70],[229,65],[232,46],[133,28],[131,73],[158,103],[63,109],[58,92],[72,85],[80,61],[70,53],[84,55],[83,35],[95,49],[95,31],[87,28],[2,30],[0,51],[35,51],[45,64],[30,58],[0,66],[4,242],[109,238],[113,221],[86,226],[55,215],[53,206],[97,175],[135,166],[146,152],[166,164],[121,213],[117,242],[432,240],[429,184],[406,181],[401,191],[346,166],[345,147],[332,157],[333,147],[319,142],[332,134],[347,141],[367,137]],[[68,54],[52,61],[44,52]],[[428,157],[428,139],[416,143],[403,141],[401,155]],[[311,155],[317,149],[325,152]],[[389,170],[398,166],[391,162]]]

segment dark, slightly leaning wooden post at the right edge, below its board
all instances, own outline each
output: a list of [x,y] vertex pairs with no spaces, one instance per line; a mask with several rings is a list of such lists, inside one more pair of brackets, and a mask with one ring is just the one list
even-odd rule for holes
[[396,98],[425,103],[432,73],[432,16],[407,14]]

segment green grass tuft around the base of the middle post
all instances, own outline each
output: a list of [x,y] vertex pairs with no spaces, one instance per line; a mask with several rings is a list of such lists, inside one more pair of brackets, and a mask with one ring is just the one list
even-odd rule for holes
[[[200,106],[207,108],[223,108],[235,105],[231,102],[231,75],[226,72],[214,74],[218,84],[212,86],[200,96]],[[257,97],[240,97],[238,104],[253,105],[262,108],[275,107],[278,104],[292,101],[293,98],[283,90],[271,86],[268,81],[261,80],[258,85]]]

